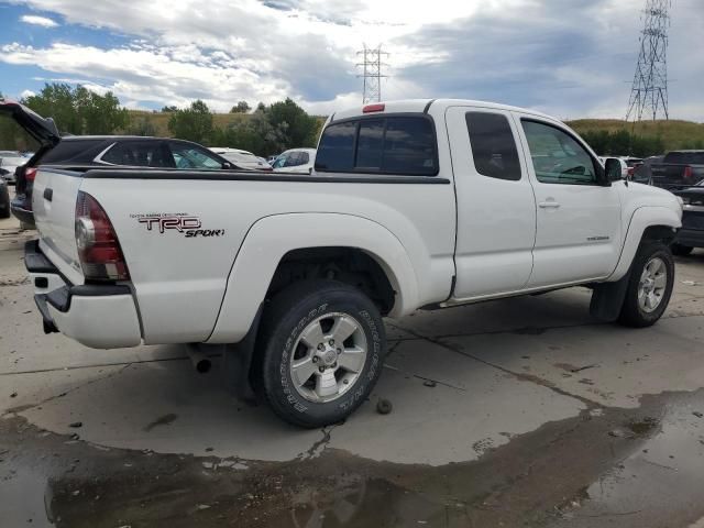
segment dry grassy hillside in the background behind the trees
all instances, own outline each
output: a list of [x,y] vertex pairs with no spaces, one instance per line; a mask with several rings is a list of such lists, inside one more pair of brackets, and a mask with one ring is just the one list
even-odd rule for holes
[[[156,129],[156,135],[166,138],[170,135],[168,131],[169,117],[170,113],[167,112],[130,111],[131,121],[146,119]],[[242,113],[213,114],[213,122],[218,128],[226,128],[228,124],[243,119],[249,119],[249,117]],[[606,130],[608,132],[627,130],[628,132],[635,132],[636,135],[661,136],[668,151],[694,147],[697,142],[704,145],[704,123],[695,123],[692,121],[658,120],[642,121],[634,124],[618,119],[578,119],[569,121],[568,124],[576,130],[578,133],[598,130]]]

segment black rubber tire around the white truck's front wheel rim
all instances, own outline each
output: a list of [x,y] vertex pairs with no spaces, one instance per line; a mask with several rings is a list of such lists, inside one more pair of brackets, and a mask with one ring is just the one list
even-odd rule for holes
[[[666,286],[660,302],[652,311],[641,308],[638,301],[638,293],[640,288],[640,279],[646,265],[653,258],[660,258],[664,263],[667,271]],[[674,260],[670,248],[660,242],[644,242],[638,249],[638,253],[634,258],[630,278],[628,279],[628,289],[626,298],[622,307],[618,322],[627,327],[644,328],[654,324],[668,307],[672,288],[674,286]]]

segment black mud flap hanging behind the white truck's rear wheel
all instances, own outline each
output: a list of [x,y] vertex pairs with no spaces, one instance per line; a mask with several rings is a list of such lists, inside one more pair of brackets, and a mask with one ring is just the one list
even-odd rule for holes
[[238,399],[253,404],[256,396],[250,380],[254,345],[262,318],[262,306],[254,317],[252,327],[239,343],[227,344],[222,353],[222,378],[226,388]]

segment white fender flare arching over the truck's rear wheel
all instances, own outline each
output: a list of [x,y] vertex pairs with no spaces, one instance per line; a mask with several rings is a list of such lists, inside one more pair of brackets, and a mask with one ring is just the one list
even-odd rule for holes
[[244,338],[284,255],[294,250],[330,246],[360,249],[382,266],[396,293],[389,316],[417,308],[418,280],[413,263],[402,242],[382,224],[334,212],[275,215],[257,220],[248,231],[206,342],[237,343]]

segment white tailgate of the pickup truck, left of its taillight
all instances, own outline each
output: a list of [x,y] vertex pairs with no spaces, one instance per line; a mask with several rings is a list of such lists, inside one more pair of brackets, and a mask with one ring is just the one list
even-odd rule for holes
[[84,284],[76,246],[76,199],[82,173],[40,168],[34,179],[32,208],[40,246],[75,285]]

